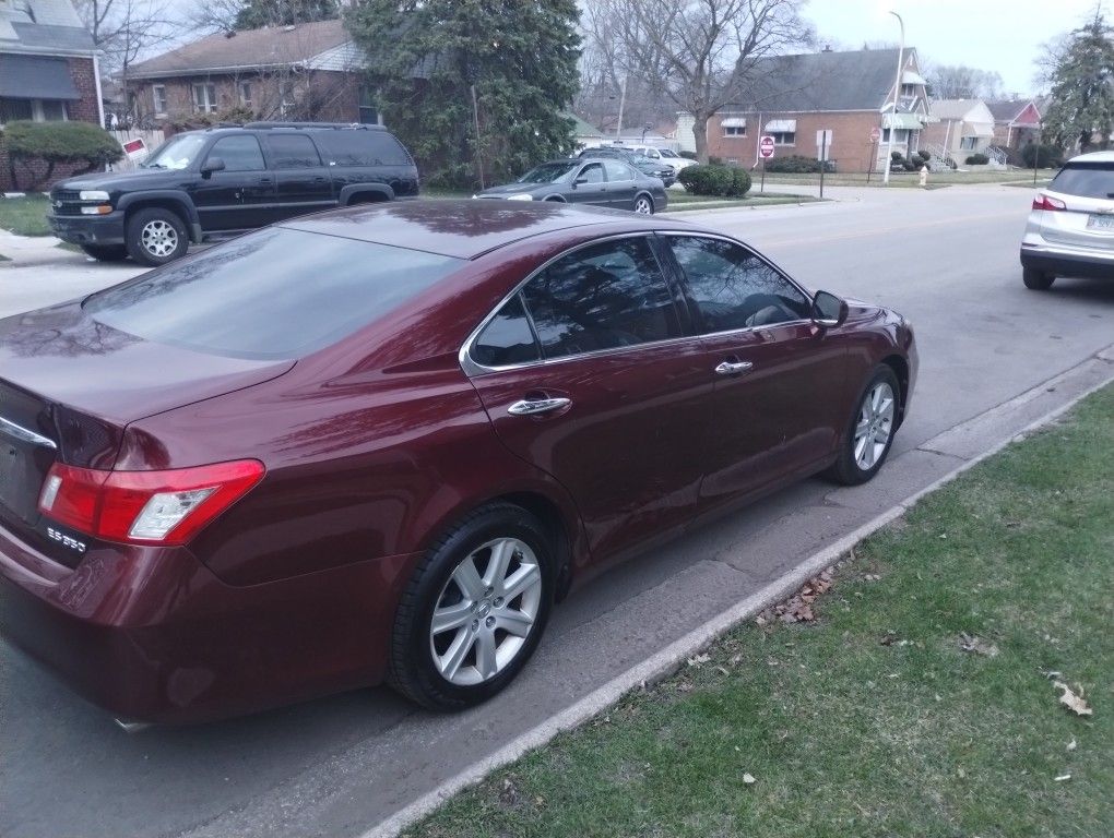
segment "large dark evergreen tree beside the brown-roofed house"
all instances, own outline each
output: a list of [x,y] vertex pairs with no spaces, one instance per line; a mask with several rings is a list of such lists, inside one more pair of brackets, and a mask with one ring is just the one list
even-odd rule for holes
[[348,24],[422,179],[471,188],[573,150],[577,19],[576,0],[363,0]]

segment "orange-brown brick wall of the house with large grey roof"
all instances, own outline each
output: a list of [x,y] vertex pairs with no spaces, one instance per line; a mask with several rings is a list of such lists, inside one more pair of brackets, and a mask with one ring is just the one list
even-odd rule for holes
[[[742,116],[746,119],[745,137],[724,137],[721,120],[732,116]],[[828,149],[828,159],[834,160],[840,171],[867,171],[870,166],[871,152],[874,150],[870,141],[870,129],[877,128],[881,124],[881,115],[876,111],[844,111],[844,112],[797,112],[797,114],[769,114],[763,112],[761,120],[758,114],[721,114],[712,117],[707,122],[707,149],[709,156],[720,157],[724,161],[737,160],[740,166],[750,168],[759,159],[758,142],[765,131],[762,127],[772,119],[795,119],[797,134],[792,146],[778,146],[774,157],[788,157],[799,155],[802,157],[819,158],[820,148],[817,146],[817,131],[821,129],[831,130],[832,144]],[[901,144],[895,145],[896,150],[905,152]],[[885,154],[883,148],[877,149],[877,158]],[[873,170],[878,171],[876,162]]]

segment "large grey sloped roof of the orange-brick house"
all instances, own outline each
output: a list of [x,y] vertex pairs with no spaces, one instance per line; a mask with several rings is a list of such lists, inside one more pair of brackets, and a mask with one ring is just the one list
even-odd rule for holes
[[[916,50],[902,55],[908,60]],[[740,105],[752,111],[878,111],[893,95],[897,66],[896,49],[772,56],[758,62],[758,80]]]

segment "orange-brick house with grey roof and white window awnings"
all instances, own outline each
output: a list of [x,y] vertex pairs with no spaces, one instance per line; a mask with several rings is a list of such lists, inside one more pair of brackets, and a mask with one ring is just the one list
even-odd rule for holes
[[[754,166],[759,138],[774,138],[775,156],[818,159],[818,131],[832,134],[828,159],[840,171],[880,170],[893,130],[893,150],[907,155],[921,148],[921,131],[931,121],[926,81],[917,50],[901,53],[901,85],[895,112],[898,50],[868,49],[775,56],[762,59],[745,101],[724,108],[707,122],[711,157]],[[692,116],[677,116],[682,149],[695,148]],[[881,141],[871,141],[871,129]]]

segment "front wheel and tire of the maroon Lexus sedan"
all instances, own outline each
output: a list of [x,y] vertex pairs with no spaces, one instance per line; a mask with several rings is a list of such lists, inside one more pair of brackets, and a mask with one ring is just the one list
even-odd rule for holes
[[880,364],[856,402],[828,475],[848,486],[871,480],[886,462],[897,431],[901,388],[893,371]]

